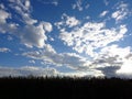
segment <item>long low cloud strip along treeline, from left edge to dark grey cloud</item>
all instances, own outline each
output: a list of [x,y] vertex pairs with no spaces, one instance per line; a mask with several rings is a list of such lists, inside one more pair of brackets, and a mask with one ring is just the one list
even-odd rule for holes
[[98,77],[103,76],[99,70],[87,70],[87,72],[73,72],[73,73],[61,73],[56,68],[52,67],[38,67],[38,66],[23,66],[20,68],[0,67],[0,77],[52,77],[52,76],[68,76],[68,77]]

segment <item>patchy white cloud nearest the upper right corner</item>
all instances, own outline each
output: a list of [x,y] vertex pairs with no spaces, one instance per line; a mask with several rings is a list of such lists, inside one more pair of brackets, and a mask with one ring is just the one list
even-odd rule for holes
[[111,14],[117,22],[124,20],[130,14],[129,8],[127,3],[118,3],[117,10]]

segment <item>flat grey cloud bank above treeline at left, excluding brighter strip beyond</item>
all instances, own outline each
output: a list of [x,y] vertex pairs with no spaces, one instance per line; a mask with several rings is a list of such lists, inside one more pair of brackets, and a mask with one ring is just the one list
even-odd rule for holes
[[57,76],[59,73],[55,68],[43,68],[38,66],[24,66],[20,68],[0,67],[0,77],[6,76]]

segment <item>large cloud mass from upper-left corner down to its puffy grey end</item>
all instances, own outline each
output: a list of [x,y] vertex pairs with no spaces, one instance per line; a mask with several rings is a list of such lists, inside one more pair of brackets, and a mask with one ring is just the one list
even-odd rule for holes
[[21,15],[23,26],[15,22],[7,22],[8,19],[12,20],[13,14],[7,12],[6,9],[0,9],[0,32],[15,35],[28,47],[44,47],[47,41],[45,33],[52,31],[52,24],[32,19],[30,0],[9,0],[9,3],[10,8]]

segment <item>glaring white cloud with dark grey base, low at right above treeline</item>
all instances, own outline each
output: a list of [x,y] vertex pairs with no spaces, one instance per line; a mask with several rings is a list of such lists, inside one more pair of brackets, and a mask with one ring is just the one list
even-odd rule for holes
[[101,70],[107,77],[132,75],[131,47],[106,46],[92,61],[91,68]]

